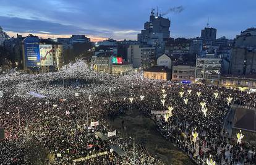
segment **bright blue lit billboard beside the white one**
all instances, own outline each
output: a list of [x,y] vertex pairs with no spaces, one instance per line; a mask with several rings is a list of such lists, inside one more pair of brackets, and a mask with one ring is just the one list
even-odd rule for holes
[[40,64],[39,46],[36,43],[24,43],[25,61],[27,67],[36,67]]

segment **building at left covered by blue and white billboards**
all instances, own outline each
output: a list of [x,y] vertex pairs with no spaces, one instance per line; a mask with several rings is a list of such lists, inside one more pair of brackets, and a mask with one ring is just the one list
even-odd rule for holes
[[63,66],[62,44],[28,35],[22,41],[23,69],[28,73],[56,72]]

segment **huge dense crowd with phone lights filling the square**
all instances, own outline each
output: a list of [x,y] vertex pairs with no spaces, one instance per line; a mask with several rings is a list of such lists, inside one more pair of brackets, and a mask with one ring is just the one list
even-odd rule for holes
[[[38,143],[38,154],[46,155],[40,159],[41,164],[72,164],[75,159],[105,151],[108,153],[76,164],[163,164],[143,145],[136,144],[134,150],[132,137],[118,131],[107,140],[96,135],[113,131],[108,119],[130,109],[151,116],[166,140],[179,146],[197,164],[206,164],[207,159],[216,164],[256,164],[255,146],[237,144],[223,130],[232,104],[227,103],[228,97],[235,104],[255,107],[255,94],[245,91],[148,80],[141,74],[96,73],[83,61],[69,64],[57,73],[0,75],[0,91],[0,127],[5,129],[5,139],[0,140],[0,164],[32,163],[38,157],[28,156],[29,142]],[[30,91],[40,95],[29,95]],[[180,92],[184,94],[181,96]],[[208,109],[207,115],[201,111],[201,102]],[[168,106],[173,107],[168,119],[151,114],[166,111]],[[96,121],[99,125],[90,125]],[[196,140],[193,132],[198,133]],[[126,154],[119,156],[111,145],[119,146]]]

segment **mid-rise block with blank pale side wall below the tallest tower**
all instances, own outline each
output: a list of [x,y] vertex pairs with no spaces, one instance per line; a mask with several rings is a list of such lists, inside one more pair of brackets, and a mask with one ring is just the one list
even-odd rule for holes
[[127,49],[127,59],[134,68],[147,69],[155,62],[155,47],[145,44],[131,44]]

